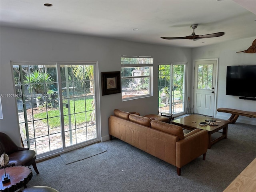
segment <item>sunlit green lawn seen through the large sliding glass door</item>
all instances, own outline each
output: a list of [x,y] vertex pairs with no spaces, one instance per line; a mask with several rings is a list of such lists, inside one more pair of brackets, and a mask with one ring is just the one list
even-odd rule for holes
[[[92,112],[91,111],[92,100],[93,99],[86,99],[86,101],[76,100],[75,102],[70,101],[70,106],[69,106],[70,114],[71,114],[70,118],[71,118],[71,123],[73,125],[75,124],[75,121],[76,121],[76,124],[81,124],[81,123],[90,121],[90,114]],[[76,114],[74,114],[75,110],[76,110]],[[69,124],[68,108],[65,108],[65,105],[63,107],[63,113],[64,113],[64,124],[68,125]],[[34,118],[42,119],[42,122],[47,124],[46,112],[34,114]],[[52,128],[60,126],[60,110],[59,109],[48,111],[48,124]]]

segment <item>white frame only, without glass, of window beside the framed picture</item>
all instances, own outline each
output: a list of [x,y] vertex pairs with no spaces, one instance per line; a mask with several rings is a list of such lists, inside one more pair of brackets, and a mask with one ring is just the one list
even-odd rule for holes
[[[136,64],[122,64],[122,58],[135,58],[135,59],[139,59],[139,58],[148,58],[148,59],[152,59],[152,62],[150,63],[136,63]],[[127,101],[127,100],[133,100],[133,99],[139,99],[139,98],[146,98],[146,97],[150,97],[153,96],[153,64],[154,64],[154,58],[151,56],[121,56],[121,95],[122,95],[122,101]],[[122,73],[124,68],[137,68],[137,67],[148,67],[149,68],[149,74],[148,75],[144,75],[144,76],[124,76],[124,74]],[[131,97],[127,97],[127,98],[123,98],[124,96],[124,92],[123,92],[123,80],[125,79],[138,79],[138,78],[149,78],[149,86],[148,86],[148,94],[144,94],[144,95],[140,95],[140,96],[131,96]]]

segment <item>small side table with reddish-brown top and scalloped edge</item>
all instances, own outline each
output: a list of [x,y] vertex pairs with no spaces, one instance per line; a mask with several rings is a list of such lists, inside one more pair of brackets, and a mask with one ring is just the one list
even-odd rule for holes
[[26,188],[27,183],[33,176],[32,170],[28,166],[6,167],[5,171],[10,175],[11,182],[2,184],[2,175],[4,174],[4,169],[0,169],[0,191],[3,192],[14,192],[19,188]]

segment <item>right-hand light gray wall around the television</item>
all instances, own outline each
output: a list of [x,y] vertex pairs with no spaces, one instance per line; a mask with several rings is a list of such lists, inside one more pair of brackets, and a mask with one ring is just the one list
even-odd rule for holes
[[[255,53],[236,53],[248,49],[255,38],[256,36],[192,49],[192,60],[219,58],[216,108],[224,107],[245,111],[256,111],[256,101],[243,100],[239,99],[239,96],[226,95],[226,66],[256,65]],[[256,82],[251,83],[255,84]],[[229,117],[229,113],[216,112],[216,118],[228,119]],[[256,118],[239,116],[237,122],[256,125]]]

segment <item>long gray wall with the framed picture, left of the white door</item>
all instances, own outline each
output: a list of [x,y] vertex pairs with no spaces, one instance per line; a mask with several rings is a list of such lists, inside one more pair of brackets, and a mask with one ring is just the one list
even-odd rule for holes
[[[100,116],[102,140],[109,139],[108,117],[115,108],[140,114],[157,114],[157,64],[188,62],[191,71],[190,48],[157,46],[122,40],[1,27],[0,93],[14,94],[10,60],[13,61],[98,61],[100,72],[120,71],[120,56],[154,57],[154,96],[122,102],[121,94],[101,95]],[[189,76],[189,78],[191,78]],[[101,89],[101,84],[99,85]],[[191,85],[189,86],[191,87]],[[190,89],[189,89],[190,91]],[[20,135],[15,98],[1,98],[4,119],[1,132],[18,144]]]

